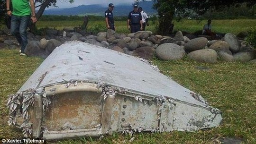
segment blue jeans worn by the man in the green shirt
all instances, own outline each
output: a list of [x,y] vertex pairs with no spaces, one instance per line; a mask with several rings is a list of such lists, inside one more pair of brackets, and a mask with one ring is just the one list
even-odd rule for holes
[[27,46],[27,24],[30,16],[14,16],[11,17],[11,34],[14,35],[21,45],[21,53],[25,53]]

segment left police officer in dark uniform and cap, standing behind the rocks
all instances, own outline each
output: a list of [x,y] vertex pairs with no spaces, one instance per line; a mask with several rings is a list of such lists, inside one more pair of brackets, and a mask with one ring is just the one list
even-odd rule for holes
[[113,9],[114,9],[114,4],[110,3],[109,8],[105,11],[105,17],[106,17],[107,28],[115,31],[114,17],[112,13]]

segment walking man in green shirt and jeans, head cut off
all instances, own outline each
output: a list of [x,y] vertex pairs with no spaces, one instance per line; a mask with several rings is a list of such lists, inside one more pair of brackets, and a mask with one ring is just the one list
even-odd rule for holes
[[[13,11],[10,10],[10,1],[12,1]],[[26,56],[27,24],[30,19],[32,23],[37,22],[34,0],[6,0],[6,11],[7,15],[11,16],[11,34],[21,45],[20,55]]]

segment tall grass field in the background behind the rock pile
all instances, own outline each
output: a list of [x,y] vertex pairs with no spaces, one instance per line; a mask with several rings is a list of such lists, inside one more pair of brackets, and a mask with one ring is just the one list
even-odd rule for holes
[[[186,31],[193,33],[199,30],[202,30],[204,24],[207,23],[207,20],[183,20],[182,22],[174,22],[174,31]],[[129,33],[127,29],[126,21],[116,21],[116,31],[118,33]],[[146,30],[152,31],[155,33],[155,23],[149,21],[149,26],[146,27]],[[234,19],[234,20],[212,20],[212,31],[217,33],[233,33],[238,34],[241,31],[248,31],[251,27],[256,27],[256,19]],[[64,27],[75,27],[82,25],[81,21],[38,21],[37,28],[50,27],[56,28],[58,30],[63,29]],[[89,21],[88,30],[105,29],[105,22],[102,21]]]

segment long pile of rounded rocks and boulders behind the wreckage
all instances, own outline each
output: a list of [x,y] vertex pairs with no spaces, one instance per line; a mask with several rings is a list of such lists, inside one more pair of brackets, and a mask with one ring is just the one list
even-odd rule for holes
[[[1,33],[7,34],[4,31]],[[181,31],[173,37],[153,35],[151,31],[119,34],[110,29],[92,35],[77,32],[73,28],[64,28],[62,31],[46,30],[45,37],[28,34],[28,38],[25,53],[44,59],[66,41],[82,41],[148,60],[156,55],[162,60],[177,60],[187,56],[195,61],[207,63],[215,63],[217,59],[227,62],[256,61],[256,50],[231,33],[225,34],[220,40],[210,41],[207,36],[183,35]],[[0,49],[14,49],[17,46],[18,42],[14,37],[0,37]]]

